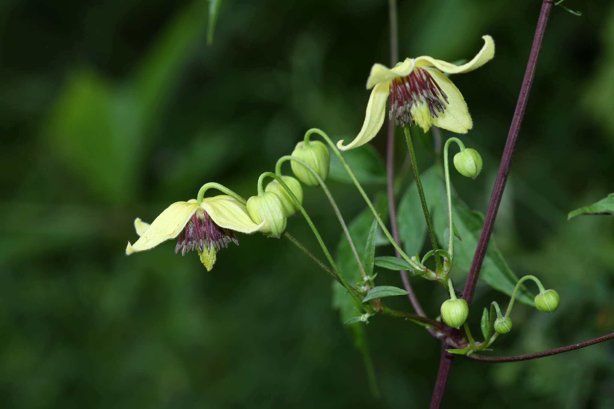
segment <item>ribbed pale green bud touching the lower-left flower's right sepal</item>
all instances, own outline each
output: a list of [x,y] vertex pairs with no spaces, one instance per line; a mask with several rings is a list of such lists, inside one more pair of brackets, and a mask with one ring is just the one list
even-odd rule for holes
[[254,223],[265,221],[260,231],[268,237],[279,237],[286,230],[286,210],[279,196],[273,192],[247,199],[247,214]]

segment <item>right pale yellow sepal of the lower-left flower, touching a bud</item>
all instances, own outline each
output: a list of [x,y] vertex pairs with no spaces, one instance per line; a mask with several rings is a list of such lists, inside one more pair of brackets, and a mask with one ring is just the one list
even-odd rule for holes
[[263,228],[264,222],[256,224],[247,214],[245,205],[233,197],[221,194],[215,197],[205,197],[201,207],[220,227],[241,233],[253,233]]

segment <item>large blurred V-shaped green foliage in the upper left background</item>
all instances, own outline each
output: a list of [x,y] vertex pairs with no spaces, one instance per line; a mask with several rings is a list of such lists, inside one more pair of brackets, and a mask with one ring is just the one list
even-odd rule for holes
[[82,69],[73,72],[60,91],[44,137],[101,201],[125,202],[133,195],[143,140],[159,120],[205,19],[206,0],[196,0],[179,12],[128,86]]

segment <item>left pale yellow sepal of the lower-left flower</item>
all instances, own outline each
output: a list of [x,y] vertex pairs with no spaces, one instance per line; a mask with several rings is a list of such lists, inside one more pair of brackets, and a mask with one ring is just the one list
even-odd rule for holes
[[142,232],[141,237],[136,240],[134,245],[128,242],[126,254],[149,250],[161,242],[174,239],[184,229],[185,224],[188,223],[190,217],[196,212],[197,207],[198,204],[190,202],[175,202],[171,204],[155,218],[146,231]]

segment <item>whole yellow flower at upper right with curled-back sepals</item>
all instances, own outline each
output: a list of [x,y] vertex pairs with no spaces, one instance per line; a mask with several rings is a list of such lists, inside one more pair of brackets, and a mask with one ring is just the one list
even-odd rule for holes
[[[341,150],[357,148],[369,142],[381,129],[390,95],[389,118],[395,124],[418,124],[424,131],[431,125],[464,134],[473,123],[461,91],[442,74],[461,74],[483,66],[495,54],[491,36],[482,36],[484,46],[467,64],[456,66],[427,55],[406,58],[392,69],[374,64],[367,80],[373,88],[367,104],[367,115],[358,136],[348,145],[337,142]],[[434,68],[432,68],[434,67]]]

